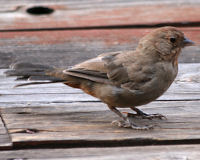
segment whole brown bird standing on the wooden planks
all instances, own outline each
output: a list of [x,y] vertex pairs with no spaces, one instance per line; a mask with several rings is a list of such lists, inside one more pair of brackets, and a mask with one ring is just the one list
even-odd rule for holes
[[16,63],[6,74],[18,76],[18,79],[49,80],[18,86],[62,82],[82,89],[99,98],[120,116],[123,120],[121,126],[149,129],[152,126],[135,125],[129,116],[123,115],[116,107],[131,108],[147,118],[162,118],[159,114],[143,113],[136,106],[155,100],[169,88],[178,72],[181,49],[193,44],[177,28],[162,27],[144,36],[136,50],[104,53],[68,69]]

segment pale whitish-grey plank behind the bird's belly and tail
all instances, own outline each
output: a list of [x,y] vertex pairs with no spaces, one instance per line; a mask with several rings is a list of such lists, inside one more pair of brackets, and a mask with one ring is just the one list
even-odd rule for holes
[[[65,105],[74,102],[99,102],[98,99],[63,84],[46,84],[13,88],[23,83],[5,77],[0,70],[0,106]],[[169,90],[158,101],[200,100],[200,64],[180,64],[179,74]]]

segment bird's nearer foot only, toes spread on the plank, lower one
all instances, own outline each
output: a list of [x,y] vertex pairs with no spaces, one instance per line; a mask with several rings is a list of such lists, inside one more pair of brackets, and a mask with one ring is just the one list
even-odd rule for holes
[[138,126],[134,124],[129,117],[126,117],[126,120],[123,121],[115,120],[112,122],[112,124],[119,127],[132,128],[134,130],[150,130],[154,128],[154,125]]

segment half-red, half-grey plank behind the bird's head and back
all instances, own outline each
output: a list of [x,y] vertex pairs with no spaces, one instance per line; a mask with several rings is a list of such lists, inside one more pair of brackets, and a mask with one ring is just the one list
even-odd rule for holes
[[[180,28],[197,42],[183,50],[180,62],[200,62],[200,28]],[[101,53],[132,50],[141,37],[152,29],[104,29],[77,31],[3,32],[0,34],[0,68],[16,61],[74,65]]]

